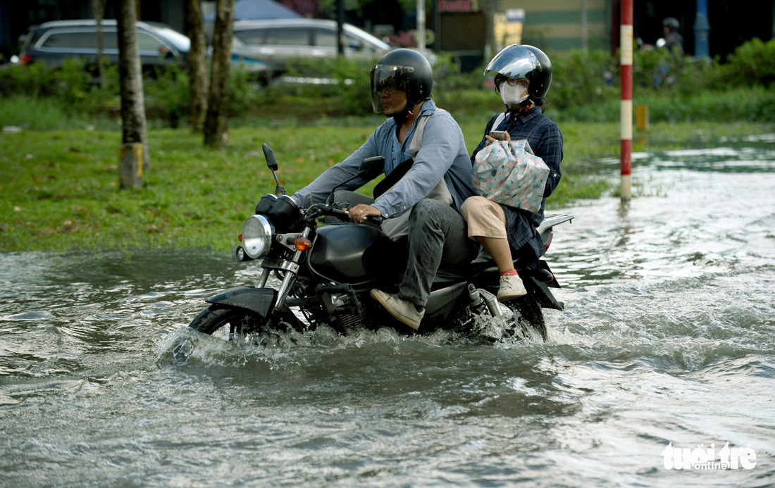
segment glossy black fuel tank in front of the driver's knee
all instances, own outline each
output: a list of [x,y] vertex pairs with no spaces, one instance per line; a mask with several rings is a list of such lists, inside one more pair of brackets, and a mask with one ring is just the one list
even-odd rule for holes
[[313,272],[337,283],[395,281],[406,268],[405,246],[371,225],[323,225],[309,255]]

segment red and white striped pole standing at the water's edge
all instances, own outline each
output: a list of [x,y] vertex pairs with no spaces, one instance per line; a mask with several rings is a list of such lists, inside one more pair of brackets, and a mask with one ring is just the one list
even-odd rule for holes
[[632,0],[622,0],[622,200],[632,198]]

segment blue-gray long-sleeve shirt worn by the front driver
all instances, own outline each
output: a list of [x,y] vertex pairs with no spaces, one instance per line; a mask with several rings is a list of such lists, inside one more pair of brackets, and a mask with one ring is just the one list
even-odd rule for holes
[[[425,125],[422,147],[415,157],[415,163],[397,184],[374,201],[374,207],[386,218],[397,217],[412,208],[442,178],[457,211],[460,211],[460,205],[466,198],[474,195],[471,188],[471,161],[460,125],[457,125],[449,112],[436,111],[436,104],[432,100],[425,101],[420,113],[415,116],[419,119],[428,114],[432,115]],[[394,120],[387,119],[374,130],[363,146],[341,163],[325,170],[311,184],[294,193],[292,198],[301,208],[325,201],[336,185],[357,173],[360,162],[367,157],[384,156],[384,173],[391,174],[398,164],[409,159],[409,146],[416,127],[416,123],[412,125],[404,143],[400,143]],[[339,189],[356,190],[366,183],[367,180],[356,178]]]

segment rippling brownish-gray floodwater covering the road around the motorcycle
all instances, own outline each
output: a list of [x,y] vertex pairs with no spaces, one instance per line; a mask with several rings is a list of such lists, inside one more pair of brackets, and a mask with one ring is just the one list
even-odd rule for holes
[[0,484],[772,486],[775,137],[636,154],[633,181],[559,209],[546,343],[321,329],[177,364],[252,266],[0,255]]

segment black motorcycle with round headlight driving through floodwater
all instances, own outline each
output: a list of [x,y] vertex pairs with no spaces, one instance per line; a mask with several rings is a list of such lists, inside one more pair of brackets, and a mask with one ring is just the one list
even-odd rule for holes
[[[277,179],[277,161],[267,144],[263,153],[275,192],[260,199],[255,214],[243,225],[241,245],[236,248],[238,261],[260,263],[260,279],[255,287],[231,288],[209,297],[208,308],[191,321],[190,328],[208,335],[226,333],[228,328],[228,338],[290,329],[303,333],[323,324],[340,334],[395,325],[403,334],[446,329],[476,335],[482,328],[477,317],[489,316],[504,321],[504,335],[522,339],[534,336],[532,329],[546,341],[542,308],[563,310],[564,305],[550,291],[560,284],[544,259],[538,270],[518,270],[528,294],[502,304],[495,297],[498,269],[484,251],[468,266],[439,269],[425,318],[414,332],[369,296],[372,288],[398,289],[407,261],[406,243],[387,237],[379,218],[363,224],[350,221],[350,204],[335,201],[336,188],[324,204],[298,208]],[[356,177],[372,180],[383,169],[381,156],[368,158]],[[546,216],[539,227],[544,253],[552,242],[553,228],[572,218]],[[279,285],[270,284],[273,275]]]

